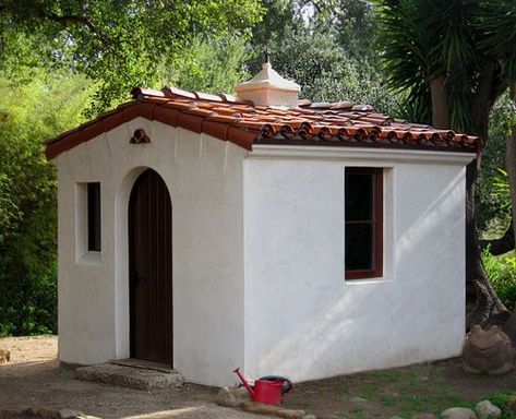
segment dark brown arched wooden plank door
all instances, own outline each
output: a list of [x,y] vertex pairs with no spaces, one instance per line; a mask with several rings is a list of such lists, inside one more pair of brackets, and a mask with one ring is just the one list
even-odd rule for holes
[[131,357],[172,363],[172,206],[152,169],[129,200]]

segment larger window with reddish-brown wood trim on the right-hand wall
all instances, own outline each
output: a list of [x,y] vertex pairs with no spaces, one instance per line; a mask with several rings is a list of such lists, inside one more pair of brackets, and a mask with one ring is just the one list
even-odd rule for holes
[[383,275],[383,169],[345,169],[346,279]]

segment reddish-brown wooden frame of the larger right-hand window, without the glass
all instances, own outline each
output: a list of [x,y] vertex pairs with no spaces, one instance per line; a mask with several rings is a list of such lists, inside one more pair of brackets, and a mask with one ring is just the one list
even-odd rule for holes
[[[346,175],[373,175],[373,268],[372,270],[346,270],[345,279],[368,279],[379,278],[383,276],[383,168],[376,167],[346,167],[345,168],[345,183]],[[346,200],[346,191],[345,191]],[[345,237],[346,237],[346,215],[344,219]],[[346,261],[345,261],[346,262]]]

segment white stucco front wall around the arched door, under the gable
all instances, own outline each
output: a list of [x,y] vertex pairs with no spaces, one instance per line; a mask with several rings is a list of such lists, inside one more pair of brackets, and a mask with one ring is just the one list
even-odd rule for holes
[[[129,144],[143,128],[151,144]],[[243,363],[242,148],[135,119],[61,154],[59,357],[89,364],[129,356],[128,203],[147,167],[172,202],[173,363],[187,380],[232,382]],[[100,253],[85,251],[83,182],[101,183]]]

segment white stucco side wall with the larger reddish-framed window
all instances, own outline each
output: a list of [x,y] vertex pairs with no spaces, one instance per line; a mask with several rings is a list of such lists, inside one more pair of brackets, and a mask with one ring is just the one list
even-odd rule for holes
[[[459,354],[464,157],[324,153],[244,160],[247,372],[304,381]],[[385,168],[382,278],[344,279],[346,166]]]

